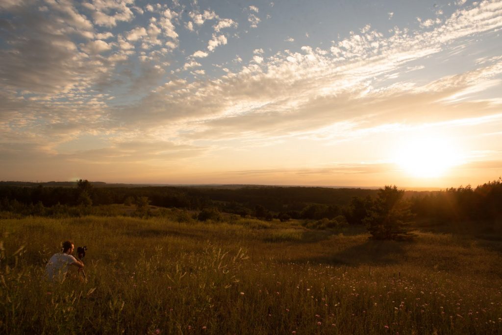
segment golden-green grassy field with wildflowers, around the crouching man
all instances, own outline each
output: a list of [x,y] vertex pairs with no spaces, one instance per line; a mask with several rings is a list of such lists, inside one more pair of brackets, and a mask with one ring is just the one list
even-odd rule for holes
[[[502,333],[502,242],[417,235],[372,241],[361,227],[235,218],[3,219],[0,333]],[[87,282],[47,283],[45,263],[67,239],[88,247]]]

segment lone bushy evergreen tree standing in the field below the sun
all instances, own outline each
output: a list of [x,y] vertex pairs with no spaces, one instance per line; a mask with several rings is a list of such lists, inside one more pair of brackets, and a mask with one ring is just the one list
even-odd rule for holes
[[402,240],[414,236],[410,233],[413,216],[409,203],[402,200],[404,193],[396,186],[379,190],[368,216],[363,220],[372,238]]

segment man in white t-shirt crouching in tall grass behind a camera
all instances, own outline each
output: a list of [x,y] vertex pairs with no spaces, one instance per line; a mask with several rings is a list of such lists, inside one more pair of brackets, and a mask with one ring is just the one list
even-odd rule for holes
[[45,266],[47,279],[52,282],[63,282],[66,274],[70,270],[70,266],[78,267],[78,270],[83,270],[84,263],[73,257],[73,249],[75,246],[71,241],[63,242],[61,252],[52,255],[49,262]]

